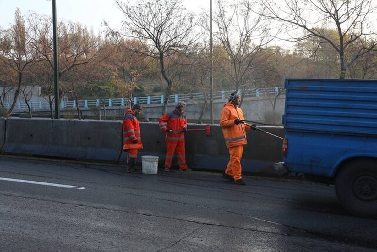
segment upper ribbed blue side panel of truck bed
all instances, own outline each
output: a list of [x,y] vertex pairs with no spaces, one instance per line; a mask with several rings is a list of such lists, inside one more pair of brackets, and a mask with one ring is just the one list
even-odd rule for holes
[[286,131],[377,135],[376,80],[285,80]]

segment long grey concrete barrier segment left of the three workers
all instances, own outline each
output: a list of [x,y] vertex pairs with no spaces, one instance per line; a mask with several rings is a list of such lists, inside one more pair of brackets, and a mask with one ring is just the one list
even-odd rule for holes
[[2,153],[76,160],[118,161],[119,121],[9,118]]

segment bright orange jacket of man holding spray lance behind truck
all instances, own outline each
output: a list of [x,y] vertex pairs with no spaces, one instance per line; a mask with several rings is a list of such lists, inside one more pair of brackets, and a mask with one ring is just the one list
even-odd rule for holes
[[243,123],[235,124],[234,120],[237,118],[245,120],[244,113],[238,106],[228,101],[224,104],[220,115],[220,126],[227,148],[247,144],[245,129],[250,129],[250,127]]

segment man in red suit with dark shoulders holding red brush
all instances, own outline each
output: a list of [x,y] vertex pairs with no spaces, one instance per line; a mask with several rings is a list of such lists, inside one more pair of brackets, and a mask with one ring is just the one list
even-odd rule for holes
[[191,171],[186,164],[185,135],[187,131],[187,118],[184,114],[186,103],[178,101],[175,109],[159,118],[158,124],[163,132],[166,132],[166,158],[165,172],[170,171],[172,159],[176,152],[179,171]]

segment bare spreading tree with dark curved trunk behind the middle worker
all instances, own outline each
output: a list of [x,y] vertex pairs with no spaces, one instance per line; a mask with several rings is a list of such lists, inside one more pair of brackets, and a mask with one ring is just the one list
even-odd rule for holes
[[161,74],[167,83],[162,111],[165,114],[173,85],[172,75],[174,76],[174,73],[169,74],[170,66],[166,65],[166,58],[180,50],[185,51],[195,42],[194,15],[183,8],[181,0],[140,0],[134,5],[130,1],[123,3],[115,0],[115,3],[126,17],[123,33],[116,34],[139,39],[144,49],[135,50],[159,60]]

